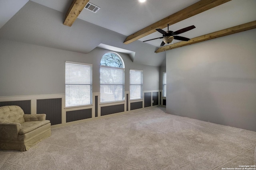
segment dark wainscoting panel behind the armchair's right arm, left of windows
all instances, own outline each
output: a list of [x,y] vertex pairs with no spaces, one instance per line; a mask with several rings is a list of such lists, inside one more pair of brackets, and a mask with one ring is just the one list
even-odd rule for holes
[[51,125],[61,124],[62,99],[41,99],[36,100],[36,113],[46,114],[46,119]]

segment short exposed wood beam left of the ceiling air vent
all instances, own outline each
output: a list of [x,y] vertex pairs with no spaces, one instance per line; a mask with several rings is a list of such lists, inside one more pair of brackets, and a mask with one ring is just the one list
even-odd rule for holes
[[89,0],[73,0],[68,8],[63,24],[71,27],[88,2]]

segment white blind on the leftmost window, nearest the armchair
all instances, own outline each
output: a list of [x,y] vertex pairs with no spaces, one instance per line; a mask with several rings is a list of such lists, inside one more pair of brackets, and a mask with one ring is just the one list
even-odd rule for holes
[[66,61],[66,107],[92,104],[92,65]]

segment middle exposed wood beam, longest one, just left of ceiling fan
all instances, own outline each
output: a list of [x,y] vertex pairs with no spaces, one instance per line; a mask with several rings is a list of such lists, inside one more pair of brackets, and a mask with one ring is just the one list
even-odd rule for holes
[[201,12],[204,12],[206,10],[210,10],[211,8],[214,8],[216,6],[219,6],[221,4],[224,4],[230,0],[200,0],[199,2],[196,2],[195,4],[188,6],[187,8],[184,8],[183,10],[180,10],[160,21],[157,21],[156,23],[153,23],[149,25],[148,27],[141,29],[140,31],[133,33],[132,35],[129,35],[126,40],[124,41],[124,44],[132,43],[133,41],[136,41],[137,39],[140,39],[142,37],[145,37],[146,35],[149,35],[151,33],[156,32],[156,28],[163,29],[167,27],[167,24],[172,25],[174,23],[180,22],[182,20],[185,20],[187,18],[190,18],[196,14],[199,14]]

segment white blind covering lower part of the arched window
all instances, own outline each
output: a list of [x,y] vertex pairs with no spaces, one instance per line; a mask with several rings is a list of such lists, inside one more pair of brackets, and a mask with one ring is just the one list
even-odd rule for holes
[[100,103],[124,101],[124,68],[100,66]]

